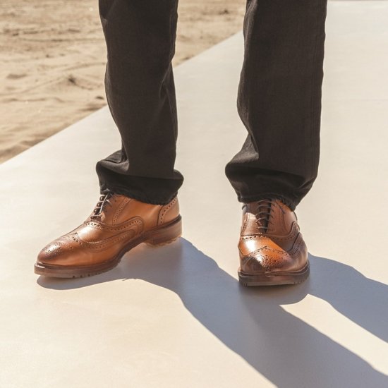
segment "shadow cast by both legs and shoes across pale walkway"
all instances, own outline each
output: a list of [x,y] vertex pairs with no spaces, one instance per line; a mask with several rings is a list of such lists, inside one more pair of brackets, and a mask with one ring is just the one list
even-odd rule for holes
[[388,286],[334,260],[310,259],[313,281],[245,288],[181,238],[157,250],[139,245],[119,267],[96,277],[40,277],[38,284],[64,290],[143,279],[174,291],[202,325],[277,387],[388,387],[387,375],[281,308],[311,293],[386,340]]

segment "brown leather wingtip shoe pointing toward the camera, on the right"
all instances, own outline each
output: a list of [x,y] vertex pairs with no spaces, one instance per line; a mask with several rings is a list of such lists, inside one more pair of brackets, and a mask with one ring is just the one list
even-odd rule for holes
[[279,200],[243,205],[238,250],[243,286],[298,284],[308,278],[308,250],[296,214]]

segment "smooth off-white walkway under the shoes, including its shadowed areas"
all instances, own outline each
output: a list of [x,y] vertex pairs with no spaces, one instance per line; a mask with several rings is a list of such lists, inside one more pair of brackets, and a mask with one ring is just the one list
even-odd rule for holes
[[241,206],[224,164],[245,138],[241,34],[176,68],[180,241],[97,277],[33,274],[97,201],[95,162],[120,145],[108,109],[2,164],[0,387],[388,387],[387,20],[388,1],[329,4],[300,286],[236,280]]

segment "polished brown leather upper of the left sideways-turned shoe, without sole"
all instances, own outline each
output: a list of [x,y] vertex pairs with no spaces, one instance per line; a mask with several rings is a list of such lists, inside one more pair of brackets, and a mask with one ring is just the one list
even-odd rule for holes
[[168,205],[151,205],[116,194],[102,199],[104,196],[83,224],[40,251],[37,265],[80,267],[106,262],[131,242],[143,242],[142,236],[158,233],[179,217],[177,198]]

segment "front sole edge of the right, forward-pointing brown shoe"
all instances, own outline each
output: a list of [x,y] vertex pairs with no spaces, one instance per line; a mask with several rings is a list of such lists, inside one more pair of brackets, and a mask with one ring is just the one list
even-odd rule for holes
[[310,274],[310,264],[297,272],[268,272],[263,274],[244,274],[238,269],[238,280],[243,286],[281,286],[284,284],[300,284]]

